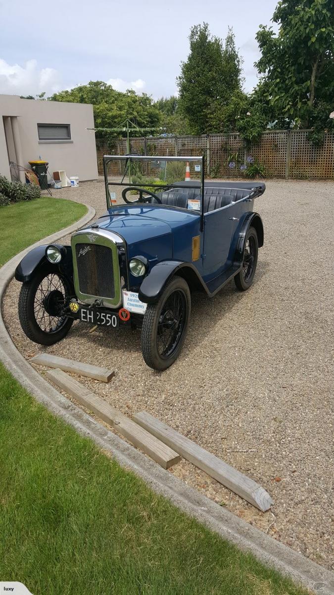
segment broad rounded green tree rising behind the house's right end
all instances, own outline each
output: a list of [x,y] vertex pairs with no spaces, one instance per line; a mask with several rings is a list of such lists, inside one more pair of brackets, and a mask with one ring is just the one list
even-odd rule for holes
[[[138,127],[160,126],[160,112],[149,95],[137,95],[131,89],[121,93],[99,80],[54,93],[49,99],[92,104],[96,128],[115,128],[127,118]],[[112,138],[120,134],[124,133],[97,131],[96,137]]]

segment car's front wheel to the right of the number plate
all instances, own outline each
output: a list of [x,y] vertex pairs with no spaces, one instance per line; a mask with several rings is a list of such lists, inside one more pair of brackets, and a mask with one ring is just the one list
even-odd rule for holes
[[[156,303],[147,305],[141,329],[141,349],[150,368],[165,370],[174,364],[187,334],[190,311],[188,283],[177,276],[169,281]],[[178,321],[175,312],[179,312]]]

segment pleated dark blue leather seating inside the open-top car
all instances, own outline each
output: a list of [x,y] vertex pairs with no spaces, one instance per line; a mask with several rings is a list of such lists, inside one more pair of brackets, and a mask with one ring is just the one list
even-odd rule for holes
[[[204,213],[215,211],[222,208],[222,206],[230,205],[231,202],[240,201],[241,198],[247,196],[250,190],[242,190],[236,188],[204,188]],[[199,188],[175,188],[175,190],[165,190],[165,192],[157,193],[163,205],[179,206],[183,209],[187,208],[188,201],[198,199],[200,196]],[[156,202],[152,199],[152,202]]]

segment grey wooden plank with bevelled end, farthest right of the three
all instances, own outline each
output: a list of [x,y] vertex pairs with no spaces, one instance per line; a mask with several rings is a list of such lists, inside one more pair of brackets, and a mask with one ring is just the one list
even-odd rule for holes
[[193,440],[189,440],[168,425],[163,424],[146,411],[137,413],[133,419],[145,430],[151,432],[153,436],[176,450],[187,461],[205,471],[223,486],[228,487],[229,490],[234,491],[238,496],[259,508],[260,511],[267,511],[273,504],[273,500],[267,491],[255,481],[246,477],[246,475],[240,473],[240,471],[237,471],[237,469],[234,469],[217,456],[207,452],[207,450],[194,443]]

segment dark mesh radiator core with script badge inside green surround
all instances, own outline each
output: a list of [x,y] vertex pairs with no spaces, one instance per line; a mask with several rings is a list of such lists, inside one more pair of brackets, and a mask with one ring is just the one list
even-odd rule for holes
[[115,297],[112,250],[99,244],[75,245],[80,292],[85,295]]

